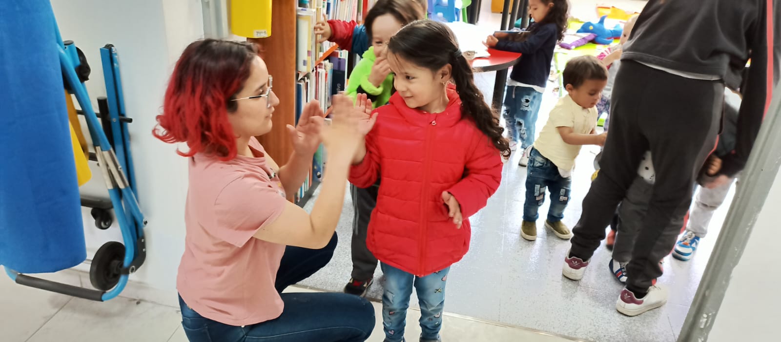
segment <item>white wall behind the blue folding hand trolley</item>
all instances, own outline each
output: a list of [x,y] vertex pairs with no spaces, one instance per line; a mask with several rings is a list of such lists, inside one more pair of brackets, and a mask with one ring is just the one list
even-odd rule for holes
[[[203,36],[201,1],[52,0],[52,7],[62,39],[74,41],[90,63],[87,90],[95,109],[95,98],[105,96],[99,49],[107,43],[117,49],[126,111],[134,119],[129,130],[138,200],[149,221],[144,229],[147,259],[130,280],[175,291],[184,251],[187,161],[177,156],[176,146],[160,142],[151,132],[174,63],[187,44]],[[92,166],[93,180],[81,192],[107,199],[100,172]],[[89,210],[84,210],[84,231],[88,258],[103,243],[122,241],[116,224],[98,231]],[[77,270],[89,267],[81,265]]]

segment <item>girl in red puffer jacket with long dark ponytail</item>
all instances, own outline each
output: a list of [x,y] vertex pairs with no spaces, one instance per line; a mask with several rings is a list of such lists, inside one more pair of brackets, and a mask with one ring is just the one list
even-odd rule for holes
[[416,21],[387,49],[396,93],[367,115],[350,181],[382,179],[366,242],[385,273],[385,340],[403,340],[414,285],[420,340],[437,341],[448,270],[469,250],[468,217],[498,188],[510,147],[448,26]]

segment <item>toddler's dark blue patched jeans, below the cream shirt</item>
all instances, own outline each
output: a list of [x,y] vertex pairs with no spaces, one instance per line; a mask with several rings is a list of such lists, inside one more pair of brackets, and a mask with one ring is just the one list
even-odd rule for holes
[[571,178],[564,178],[551,160],[543,157],[540,151],[532,149],[529,153],[529,165],[526,175],[526,203],[523,203],[523,220],[536,222],[540,215],[537,211],[545,202],[545,188],[551,193],[551,208],[547,210],[547,220],[551,223],[564,218],[564,210],[569,203]]

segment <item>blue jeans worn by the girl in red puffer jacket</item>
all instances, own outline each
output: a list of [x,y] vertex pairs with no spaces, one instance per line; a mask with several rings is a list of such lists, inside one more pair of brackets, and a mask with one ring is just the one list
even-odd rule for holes
[[447,284],[450,267],[431,273],[426,277],[415,277],[394,266],[380,263],[385,274],[383,293],[383,330],[386,342],[404,340],[409,296],[412,285],[417,290],[420,304],[421,341],[436,341],[442,328],[444,311],[444,286]]

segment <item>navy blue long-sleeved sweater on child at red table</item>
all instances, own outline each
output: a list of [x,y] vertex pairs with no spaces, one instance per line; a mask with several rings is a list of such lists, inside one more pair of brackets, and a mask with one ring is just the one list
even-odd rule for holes
[[545,87],[547,77],[551,74],[551,59],[553,49],[558,41],[558,28],[555,23],[547,23],[529,27],[534,30],[526,41],[499,41],[497,50],[519,52],[521,59],[512,67],[510,78],[515,82]]

